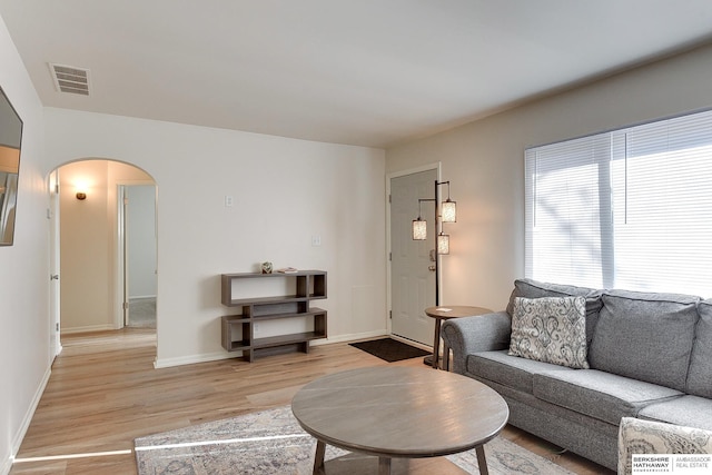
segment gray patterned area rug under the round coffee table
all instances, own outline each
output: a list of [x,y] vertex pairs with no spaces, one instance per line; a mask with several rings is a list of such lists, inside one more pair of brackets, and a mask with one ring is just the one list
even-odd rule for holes
[[[139,475],[221,475],[312,473],[316,441],[289,406],[205,423],[135,441]],[[502,437],[485,445],[491,474],[573,475]],[[325,459],[346,452],[327,445]],[[447,457],[478,474],[475,451]]]

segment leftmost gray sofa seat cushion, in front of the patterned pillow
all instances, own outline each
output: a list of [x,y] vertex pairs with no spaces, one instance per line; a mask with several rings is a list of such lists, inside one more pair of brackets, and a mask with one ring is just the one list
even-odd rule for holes
[[532,394],[532,376],[540,372],[573,372],[564,366],[507,355],[507,350],[481,352],[467,356],[467,373]]

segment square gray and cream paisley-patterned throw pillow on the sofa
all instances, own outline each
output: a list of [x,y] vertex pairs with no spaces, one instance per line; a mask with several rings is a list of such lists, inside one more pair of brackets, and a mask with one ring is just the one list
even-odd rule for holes
[[587,369],[585,297],[516,297],[510,355]]

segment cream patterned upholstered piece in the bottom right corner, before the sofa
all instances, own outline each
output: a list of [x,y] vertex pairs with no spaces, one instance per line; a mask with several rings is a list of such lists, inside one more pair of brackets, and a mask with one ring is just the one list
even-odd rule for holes
[[619,474],[630,475],[634,454],[712,454],[712,431],[623,417]]

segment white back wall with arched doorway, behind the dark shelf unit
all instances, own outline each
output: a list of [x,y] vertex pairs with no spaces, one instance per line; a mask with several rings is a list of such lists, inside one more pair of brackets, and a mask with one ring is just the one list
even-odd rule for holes
[[51,108],[46,130],[53,166],[110,158],[157,182],[158,366],[228,357],[219,275],[264,260],[329,273],[329,340],[385,333],[383,150]]

